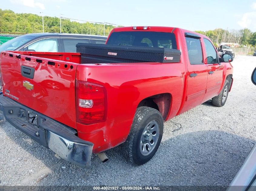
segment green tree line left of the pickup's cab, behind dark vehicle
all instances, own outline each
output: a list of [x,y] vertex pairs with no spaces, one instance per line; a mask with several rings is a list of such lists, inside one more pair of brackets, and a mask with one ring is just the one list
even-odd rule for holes
[[[104,24],[79,23],[63,19],[61,22],[62,33],[79,34],[104,34]],[[116,26],[105,24],[105,35]],[[15,13],[11,10],[0,9],[0,33],[42,33],[42,16],[30,13]],[[60,18],[44,16],[44,32],[59,33]]]

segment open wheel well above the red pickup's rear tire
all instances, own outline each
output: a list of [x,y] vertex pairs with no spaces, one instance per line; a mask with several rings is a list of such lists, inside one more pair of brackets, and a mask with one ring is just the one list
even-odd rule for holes
[[161,114],[163,119],[165,120],[171,106],[171,94],[163,93],[163,94],[156,94],[150,97],[147,97],[138,104],[138,107],[151,107],[158,110]]

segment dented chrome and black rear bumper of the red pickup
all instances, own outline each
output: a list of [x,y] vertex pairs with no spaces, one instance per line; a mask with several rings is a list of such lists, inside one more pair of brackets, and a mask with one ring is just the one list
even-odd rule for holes
[[6,121],[39,144],[73,164],[91,167],[93,143],[78,138],[75,129],[5,96],[0,96],[0,110]]

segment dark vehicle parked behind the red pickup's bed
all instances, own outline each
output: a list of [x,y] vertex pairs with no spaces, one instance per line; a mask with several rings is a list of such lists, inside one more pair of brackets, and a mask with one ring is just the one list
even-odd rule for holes
[[0,46],[3,50],[75,53],[77,43],[105,44],[107,37],[67,33],[32,33],[16,37]]

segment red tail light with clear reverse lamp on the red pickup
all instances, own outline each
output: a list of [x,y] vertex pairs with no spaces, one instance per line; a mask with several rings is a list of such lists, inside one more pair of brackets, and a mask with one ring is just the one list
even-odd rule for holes
[[76,80],[76,121],[99,123],[106,119],[106,89],[98,84]]

